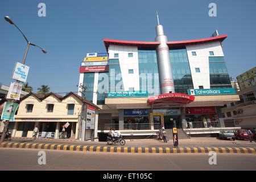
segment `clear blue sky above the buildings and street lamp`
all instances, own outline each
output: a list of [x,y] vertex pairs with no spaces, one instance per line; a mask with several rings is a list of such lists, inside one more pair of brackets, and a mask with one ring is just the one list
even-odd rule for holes
[[[46,4],[46,17],[38,4]],[[208,15],[209,3],[217,17]],[[30,42],[27,82],[37,92],[48,85],[51,92],[77,92],[79,65],[88,52],[106,52],[103,39],[154,41],[156,10],[168,41],[209,38],[214,30],[227,34],[223,51],[230,76],[255,67],[256,1],[0,1],[0,82],[10,85],[16,61],[22,62],[26,41],[3,18],[9,15]]]

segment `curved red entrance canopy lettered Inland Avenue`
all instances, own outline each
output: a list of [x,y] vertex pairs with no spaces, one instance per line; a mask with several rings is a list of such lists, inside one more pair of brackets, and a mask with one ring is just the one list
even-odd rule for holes
[[181,104],[189,104],[195,100],[194,96],[189,96],[182,93],[165,93],[158,96],[153,96],[148,98],[147,105],[152,105],[153,103],[159,102],[179,102]]

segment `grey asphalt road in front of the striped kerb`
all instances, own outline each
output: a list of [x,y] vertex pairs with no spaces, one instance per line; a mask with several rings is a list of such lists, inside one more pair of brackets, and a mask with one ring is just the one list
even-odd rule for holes
[[36,149],[0,148],[0,170],[187,171],[256,170],[255,154],[129,154],[45,150],[46,165],[38,164]]

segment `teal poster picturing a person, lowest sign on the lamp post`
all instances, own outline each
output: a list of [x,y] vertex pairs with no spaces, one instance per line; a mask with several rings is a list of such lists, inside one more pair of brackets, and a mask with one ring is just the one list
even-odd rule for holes
[[3,113],[1,115],[2,120],[14,121],[15,112],[18,109],[19,104],[12,102],[5,102],[5,107],[3,107]]

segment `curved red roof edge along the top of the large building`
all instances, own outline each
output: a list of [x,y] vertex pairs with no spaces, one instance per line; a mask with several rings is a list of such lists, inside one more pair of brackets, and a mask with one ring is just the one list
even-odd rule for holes
[[[167,42],[167,44],[169,47],[179,47],[179,46],[203,44],[203,43],[215,42],[215,41],[222,42],[227,37],[228,35],[220,35],[220,36],[214,36],[212,38]],[[112,39],[104,39],[103,41],[104,41],[107,52],[110,44],[118,45],[118,46],[138,46],[138,47],[156,47],[156,45],[160,44],[160,42],[138,42],[138,41],[112,40]]]

